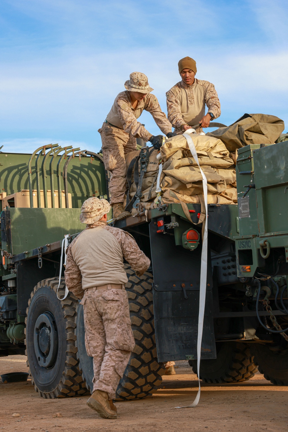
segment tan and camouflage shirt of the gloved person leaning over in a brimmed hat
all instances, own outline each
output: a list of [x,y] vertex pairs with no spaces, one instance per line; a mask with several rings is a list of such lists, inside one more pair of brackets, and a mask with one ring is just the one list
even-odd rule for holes
[[166,135],[172,131],[166,115],[161,110],[156,96],[148,93],[142,101],[138,102],[136,108],[132,108],[130,92],[120,92],[107,116],[108,123],[120,127],[125,132],[136,138],[142,138],[145,142],[149,141],[152,134],[137,121],[143,110],[152,114],[159,129]]

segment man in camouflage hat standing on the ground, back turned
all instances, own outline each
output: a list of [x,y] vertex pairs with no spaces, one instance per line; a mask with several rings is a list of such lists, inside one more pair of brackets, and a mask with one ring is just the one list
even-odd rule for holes
[[86,229],[67,250],[65,283],[82,299],[85,346],[93,357],[93,392],[87,404],[101,417],[116,419],[113,399],[135,345],[123,258],[138,276],[148,269],[150,260],[132,235],[107,225],[109,211],[104,199],[84,201],[80,221]]

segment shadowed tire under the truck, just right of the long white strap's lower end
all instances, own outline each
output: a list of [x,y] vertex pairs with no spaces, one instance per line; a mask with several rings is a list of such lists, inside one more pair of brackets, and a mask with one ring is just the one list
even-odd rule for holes
[[[253,356],[246,343],[218,342],[217,358],[201,360],[200,379],[207,383],[223,384],[247,381],[257,372]],[[197,361],[189,360],[193,372],[197,374]]]

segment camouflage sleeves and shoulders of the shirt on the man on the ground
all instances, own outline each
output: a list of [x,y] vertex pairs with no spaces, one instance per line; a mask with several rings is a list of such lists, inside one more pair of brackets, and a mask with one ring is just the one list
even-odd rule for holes
[[[137,272],[142,274],[148,269],[150,265],[150,260],[148,257],[146,257],[144,252],[142,252],[139,249],[136,241],[134,240],[131,234],[129,234],[126,231],[123,231],[122,229],[108,226],[106,222],[95,222],[94,224],[87,225],[87,228],[84,231],[82,231],[82,233],[88,229],[92,229],[96,227],[106,229],[108,232],[114,235],[114,237],[116,238],[117,242],[120,245],[123,257],[125,258],[125,260],[128,261],[128,263],[131,265],[133,270],[136,270]],[[73,292],[73,294],[79,299],[82,299],[85,290],[82,289],[81,271],[73,258],[71,248],[73,247],[73,244],[75,244],[79,236],[82,235],[82,233],[80,233],[76,238],[74,238],[74,240],[69,245],[67,250],[66,267],[65,267],[66,286],[69,289],[69,291]],[[109,256],[109,260],[113,264],[113,257]],[[107,281],[107,283],[114,283],[114,281]],[[123,281],[123,283],[125,283],[125,281]],[[99,283],[99,285],[102,284]]]

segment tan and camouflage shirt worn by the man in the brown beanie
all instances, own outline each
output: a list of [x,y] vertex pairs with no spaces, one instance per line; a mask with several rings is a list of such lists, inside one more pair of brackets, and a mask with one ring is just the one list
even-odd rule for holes
[[209,81],[195,78],[191,86],[180,81],[166,93],[166,97],[168,120],[177,130],[181,130],[184,124],[198,124],[205,115],[205,104],[214,118],[221,114],[217,92]]

